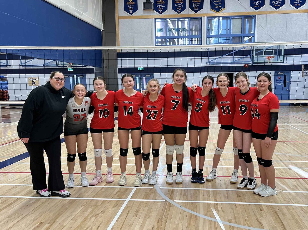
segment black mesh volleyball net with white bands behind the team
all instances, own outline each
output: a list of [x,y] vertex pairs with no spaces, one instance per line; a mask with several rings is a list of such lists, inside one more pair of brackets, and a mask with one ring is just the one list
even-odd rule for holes
[[[0,103],[22,104],[31,90],[64,74],[64,86],[82,83],[94,90],[93,79],[103,76],[109,90],[123,88],[121,76],[135,77],[134,88],[145,89],[149,79],[172,82],[176,68],[187,72],[186,84],[199,84],[205,75],[227,73],[230,86],[245,72],[252,86],[259,73],[272,78],[281,103],[308,102],[308,42],[246,43],[155,47],[22,47],[0,46]],[[214,87],[216,84],[214,83]],[[288,104],[286,104],[288,105]]]

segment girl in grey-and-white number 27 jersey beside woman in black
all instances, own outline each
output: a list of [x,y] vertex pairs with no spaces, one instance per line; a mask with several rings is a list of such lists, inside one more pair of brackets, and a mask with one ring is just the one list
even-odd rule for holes
[[[66,187],[74,187],[74,166],[75,157],[78,152],[79,166],[81,170],[81,185],[83,187],[89,186],[86,177],[87,169],[87,142],[88,142],[88,127],[87,115],[91,105],[91,99],[86,97],[86,87],[83,84],[76,84],[74,86],[74,97],[72,97],[66,107],[66,120],[64,122],[64,139],[67,149],[67,168],[68,168],[68,182]],[[76,143],[77,149],[76,152]]]

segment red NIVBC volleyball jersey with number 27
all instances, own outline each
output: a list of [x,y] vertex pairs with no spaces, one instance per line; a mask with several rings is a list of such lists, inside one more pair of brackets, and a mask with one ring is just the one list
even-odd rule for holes
[[143,99],[142,130],[148,132],[159,132],[163,130],[161,111],[165,105],[165,97],[158,95],[156,101],[150,100],[150,94]]

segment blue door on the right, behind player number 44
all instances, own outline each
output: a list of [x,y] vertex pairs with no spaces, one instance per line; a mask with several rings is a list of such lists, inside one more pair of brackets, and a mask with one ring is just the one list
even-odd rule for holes
[[[273,93],[276,94],[279,100],[290,99],[290,75],[290,71],[275,72]],[[280,105],[289,105],[289,103],[280,103]]]

